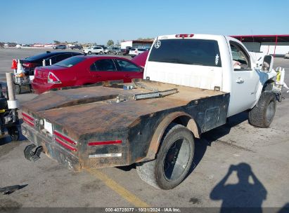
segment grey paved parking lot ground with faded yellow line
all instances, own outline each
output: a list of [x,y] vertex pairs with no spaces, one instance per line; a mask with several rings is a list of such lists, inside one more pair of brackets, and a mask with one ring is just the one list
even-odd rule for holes
[[[0,49],[0,81],[11,71],[13,58],[44,49]],[[81,50],[77,50],[81,51]],[[276,58],[284,67],[289,85],[289,60]],[[36,95],[17,95],[21,102]],[[0,194],[1,207],[221,207],[222,202],[249,207],[289,205],[289,102],[283,102],[269,129],[248,123],[248,114],[229,118],[229,123],[206,132],[195,144],[194,165],[185,181],[162,191],[139,179],[134,165],[73,172],[41,155],[25,160],[25,137],[0,141],[0,188],[25,185],[10,195]],[[94,125],[91,121],[91,125]],[[229,170],[235,165],[234,170]],[[231,173],[229,173],[231,172]],[[238,173],[238,174],[237,174]],[[225,187],[220,181],[231,184]],[[27,186],[26,186],[27,185]],[[158,198],[158,199],[156,199]]]

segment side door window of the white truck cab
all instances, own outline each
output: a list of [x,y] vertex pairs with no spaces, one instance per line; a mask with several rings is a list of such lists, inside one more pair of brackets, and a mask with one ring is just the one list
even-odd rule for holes
[[238,43],[230,41],[230,47],[233,57],[233,67],[235,71],[251,69],[250,57],[248,53]]

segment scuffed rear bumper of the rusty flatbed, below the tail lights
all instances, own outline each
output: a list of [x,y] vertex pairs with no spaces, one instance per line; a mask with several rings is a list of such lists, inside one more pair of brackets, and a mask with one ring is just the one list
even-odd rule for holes
[[21,129],[23,135],[27,137],[30,142],[36,146],[43,147],[44,153],[46,153],[46,156],[49,156],[49,158],[76,171],[82,168],[82,165],[79,163],[79,158],[77,157],[77,152],[72,154],[70,151],[65,150],[62,146],[57,144],[52,137],[41,135],[41,133],[25,123],[21,125]]

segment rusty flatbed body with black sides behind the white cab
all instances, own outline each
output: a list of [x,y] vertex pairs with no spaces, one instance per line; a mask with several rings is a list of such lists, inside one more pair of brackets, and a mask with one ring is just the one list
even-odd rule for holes
[[[198,129],[196,137],[226,122],[229,93],[146,80],[136,85],[132,90],[124,90],[122,84],[117,84],[39,95],[22,106],[34,123],[23,123],[23,135],[43,146],[51,158],[79,169],[153,159],[158,147],[154,135],[167,116],[179,115],[176,120],[184,118],[182,122],[187,125],[192,119]],[[166,97],[133,99],[136,94],[152,92],[148,88],[158,91],[176,88],[178,92]],[[53,132],[72,139],[76,151],[57,143],[53,132],[47,132],[41,124],[43,119],[51,123]],[[88,145],[108,141],[120,143]]]

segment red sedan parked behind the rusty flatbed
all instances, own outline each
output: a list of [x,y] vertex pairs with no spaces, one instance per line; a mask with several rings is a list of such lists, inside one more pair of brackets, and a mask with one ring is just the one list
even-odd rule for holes
[[70,57],[49,67],[37,67],[32,88],[40,94],[53,88],[89,85],[99,81],[143,78],[143,68],[122,57],[82,55]]

